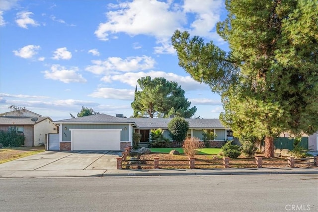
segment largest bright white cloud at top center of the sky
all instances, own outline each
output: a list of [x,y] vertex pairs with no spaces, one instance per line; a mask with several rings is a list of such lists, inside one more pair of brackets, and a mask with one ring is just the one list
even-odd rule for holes
[[106,13],[107,22],[100,23],[95,31],[100,40],[106,41],[110,34],[120,32],[132,36],[170,37],[180,23],[186,22],[185,14],[180,10],[173,11],[166,2],[135,0],[114,5],[115,10]]

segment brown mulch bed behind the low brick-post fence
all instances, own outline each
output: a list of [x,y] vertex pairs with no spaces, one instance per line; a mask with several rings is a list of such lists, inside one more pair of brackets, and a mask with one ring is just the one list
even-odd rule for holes
[[[263,155],[260,154],[257,156],[263,156]],[[125,168],[154,169],[155,157],[159,157],[159,169],[188,169],[189,168],[189,159],[188,159],[188,156],[185,154],[171,155],[171,154],[164,154],[164,153],[151,153],[151,154],[144,154],[139,156],[139,160],[141,160],[141,164],[132,163],[130,166],[126,166],[127,162],[123,161],[123,169]],[[272,158],[272,159],[277,159],[277,160],[263,159],[262,161],[263,167],[264,168],[288,168],[288,164],[286,160],[287,158],[280,157],[280,158]],[[282,159],[285,159],[285,160],[282,160]],[[165,161],[162,161],[162,160],[165,160]],[[210,160],[210,161],[207,161],[207,160]],[[297,162],[306,162],[306,161],[298,161],[297,159],[295,159],[295,163]],[[283,164],[280,164],[280,163],[283,163]],[[312,166],[313,165],[310,165],[310,164],[295,164],[295,167],[298,167],[298,168],[308,168]],[[195,155],[195,168],[200,168],[200,169],[224,168],[223,159],[220,157],[219,159],[217,159],[216,155]],[[230,159],[230,168],[256,168],[255,159],[245,158],[244,156],[240,156],[237,159]]]

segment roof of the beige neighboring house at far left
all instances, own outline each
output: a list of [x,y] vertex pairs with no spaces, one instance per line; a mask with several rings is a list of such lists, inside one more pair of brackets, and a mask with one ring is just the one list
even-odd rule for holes
[[[41,116],[36,117],[38,120],[35,122],[31,121],[34,117],[25,117],[25,116],[0,116],[0,125],[34,125],[39,123],[47,118],[51,120],[50,117]],[[52,120],[51,120],[52,121]]]

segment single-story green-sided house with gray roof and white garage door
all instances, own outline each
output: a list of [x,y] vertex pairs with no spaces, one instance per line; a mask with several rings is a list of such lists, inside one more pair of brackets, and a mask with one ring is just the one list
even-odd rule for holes
[[[50,150],[123,150],[132,145],[132,134],[140,133],[141,142],[149,142],[150,131],[161,128],[163,136],[170,138],[168,123],[171,119],[119,118],[106,114],[84,116],[55,121],[60,126],[58,149]],[[221,146],[227,140],[227,129],[219,119],[186,119],[188,137],[202,140],[203,130],[217,135],[215,142]]]

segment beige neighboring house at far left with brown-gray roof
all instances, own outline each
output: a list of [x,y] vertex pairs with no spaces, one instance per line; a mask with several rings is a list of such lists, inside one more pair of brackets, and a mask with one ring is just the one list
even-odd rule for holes
[[0,130],[14,130],[24,135],[24,146],[38,146],[46,143],[49,133],[57,134],[58,126],[50,117],[0,116]]

